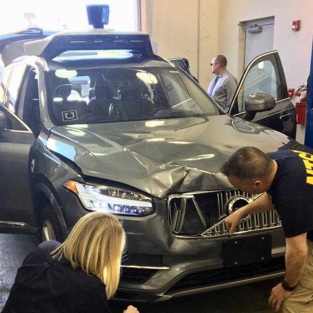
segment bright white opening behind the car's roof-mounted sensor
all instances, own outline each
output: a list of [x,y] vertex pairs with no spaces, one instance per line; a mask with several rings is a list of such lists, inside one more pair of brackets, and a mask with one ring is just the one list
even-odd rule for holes
[[[88,25],[86,5],[110,5],[109,25],[114,30],[140,30],[140,1],[138,0],[12,0],[2,9],[0,27],[2,33],[14,32],[27,26],[39,26],[47,30],[84,30]],[[25,18],[25,13],[27,14]],[[34,18],[34,14],[36,17]]]

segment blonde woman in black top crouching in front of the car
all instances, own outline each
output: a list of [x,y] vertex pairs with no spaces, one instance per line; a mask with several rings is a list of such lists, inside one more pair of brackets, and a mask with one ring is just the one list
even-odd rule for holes
[[[63,243],[45,241],[26,257],[2,313],[110,312],[124,246],[114,215],[84,215]],[[132,305],[123,312],[139,313]]]

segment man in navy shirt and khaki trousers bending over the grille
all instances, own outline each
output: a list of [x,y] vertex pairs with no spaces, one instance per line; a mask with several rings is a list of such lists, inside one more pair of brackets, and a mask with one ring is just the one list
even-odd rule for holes
[[269,305],[276,311],[281,307],[281,313],[313,312],[313,154],[279,150],[267,155],[255,147],[243,147],[221,172],[241,191],[262,194],[226,218],[230,234],[247,214],[275,209],[280,216],[286,273],[272,288]]

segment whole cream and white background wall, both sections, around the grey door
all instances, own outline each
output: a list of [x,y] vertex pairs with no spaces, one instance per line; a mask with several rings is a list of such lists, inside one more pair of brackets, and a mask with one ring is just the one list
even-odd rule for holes
[[[141,0],[141,3],[142,8],[152,4],[152,10],[144,12],[143,30],[151,30],[152,40],[158,43],[157,53],[165,58],[188,58],[193,74],[204,88],[213,77],[209,63],[216,54],[225,54],[228,70],[241,77],[244,33],[238,23],[269,16],[275,17],[273,48],[279,52],[288,87],[297,89],[306,82],[313,36],[313,0]],[[292,21],[297,19],[301,20],[301,28],[293,32]],[[298,126],[298,141],[304,142],[304,132],[304,127]]]

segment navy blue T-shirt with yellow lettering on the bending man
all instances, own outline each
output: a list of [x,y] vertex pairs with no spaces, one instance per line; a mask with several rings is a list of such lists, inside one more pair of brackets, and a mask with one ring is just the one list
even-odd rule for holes
[[277,172],[268,194],[280,215],[285,237],[307,233],[313,241],[313,155],[297,150],[269,154]]

